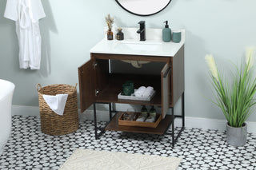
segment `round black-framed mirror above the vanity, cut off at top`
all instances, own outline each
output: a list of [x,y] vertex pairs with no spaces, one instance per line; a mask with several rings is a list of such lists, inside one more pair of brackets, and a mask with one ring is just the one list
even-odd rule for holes
[[169,5],[171,0],[115,0],[131,14],[149,16],[157,14]]

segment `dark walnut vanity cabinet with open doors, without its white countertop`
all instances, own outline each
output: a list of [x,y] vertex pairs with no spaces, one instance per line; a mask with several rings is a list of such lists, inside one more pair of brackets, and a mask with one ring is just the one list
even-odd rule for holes
[[[140,75],[131,73],[110,73],[110,60],[130,60],[130,61],[151,61],[164,63],[162,71],[158,75]],[[90,61],[78,68],[80,104],[81,112],[84,112],[94,105],[95,136],[98,138],[98,130],[142,132],[162,135],[166,129],[172,125],[174,129],[174,118],[182,117],[184,128],[184,45],[178,50],[175,56],[156,57],[143,55],[124,55],[110,53],[90,53]],[[139,86],[152,86],[156,90],[151,101],[131,101],[118,99],[118,93],[122,91],[122,84],[126,81],[134,82],[134,89]],[[174,105],[182,97],[182,115],[174,115]],[[106,103],[110,105],[110,122],[105,128],[98,128],[96,121],[95,103]],[[118,117],[121,113],[116,113],[112,117],[111,104],[122,103],[132,105],[154,105],[162,107],[162,121],[157,128],[142,128],[118,125]],[[166,115],[169,109],[172,115]],[[182,128],[182,130],[183,130]],[[182,130],[180,132],[182,132]],[[178,133],[178,136],[180,134]],[[174,130],[171,134],[174,139]],[[172,142],[174,145],[174,142]]]

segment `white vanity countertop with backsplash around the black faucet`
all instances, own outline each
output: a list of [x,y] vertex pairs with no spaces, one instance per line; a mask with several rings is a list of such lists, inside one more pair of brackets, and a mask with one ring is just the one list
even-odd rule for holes
[[139,34],[136,33],[137,30],[138,28],[123,28],[124,40],[108,41],[105,37],[90,49],[90,53],[174,57],[185,44],[185,30],[172,30],[182,32],[182,40],[179,43],[162,42],[162,29],[146,29],[146,41],[141,42]]

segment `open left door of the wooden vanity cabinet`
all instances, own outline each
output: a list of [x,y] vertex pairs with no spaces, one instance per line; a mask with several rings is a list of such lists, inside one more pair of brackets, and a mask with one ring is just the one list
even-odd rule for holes
[[91,59],[78,68],[81,113],[88,109],[96,100],[96,72],[94,67],[94,60]]

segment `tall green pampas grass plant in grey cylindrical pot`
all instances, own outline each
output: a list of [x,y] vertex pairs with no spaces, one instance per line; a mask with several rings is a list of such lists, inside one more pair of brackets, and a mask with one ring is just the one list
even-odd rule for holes
[[253,49],[247,49],[246,65],[236,66],[236,73],[230,81],[224,79],[219,73],[216,62],[212,55],[207,54],[205,59],[210,69],[210,77],[214,90],[216,102],[226,117],[226,141],[235,147],[246,144],[247,125],[246,120],[253,113],[256,104],[254,94],[256,93],[256,79],[253,76]]

